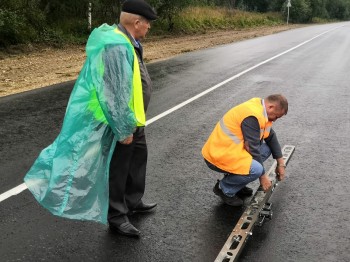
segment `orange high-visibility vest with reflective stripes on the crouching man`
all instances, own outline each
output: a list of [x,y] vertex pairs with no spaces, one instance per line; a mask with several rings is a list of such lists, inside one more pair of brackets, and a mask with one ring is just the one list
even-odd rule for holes
[[253,157],[244,148],[242,122],[254,116],[260,125],[260,140],[270,134],[272,122],[268,121],[264,101],[252,98],[231,110],[216,124],[202,148],[203,157],[228,173],[247,175]]

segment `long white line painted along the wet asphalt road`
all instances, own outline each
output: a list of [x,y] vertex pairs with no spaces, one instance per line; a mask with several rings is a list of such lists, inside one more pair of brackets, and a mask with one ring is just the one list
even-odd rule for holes
[[[306,40],[305,42],[302,42],[301,44],[299,44],[297,46],[294,46],[294,47],[292,47],[292,48],[290,48],[290,49],[288,49],[288,50],[286,50],[286,51],[284,51],[284,52],[282,52],[282,53],[280,53],[278,55],[275,55],[275,56],[273,56],[273,57],[271,57],[269,59],[266,59],[265,61],[263,61],[263,62],[261,62],[259,64],[256,64],[255,66],[252,66],[252,67],[250,67],[250,68],[248,68],[248,69],[246,69],[246,70],[244,70],[244,71],[242,71],[242,72],[240,72],[240,73],[238,73],[238,74],[236,74],[236,75],[234,75],[234,76],[232,76],[232,77],[222,81],[221,83],[219,83],[219,84],[217,84],[217,85],[215,85],[215,86],[213,86],[213,87],[203,91],[202,93],[199,93],[198,95],[196,95],[196,96],[194,96],[194,97],[192,97],[192,98],[190,98],[190,99],[188,99],[188,100],[178,104],[177,106],[174,106],[173,108],[170,108],[169,110],[167,110],[167,111],[165,111],[165,112],[163,112],[163,113],[161,113],[161,114],[159,114],[159,115],[157,115],[157,116],[147,120],[146,121],[146,126],[148,126],[148,125],[152,124],[153,122],[155,122],[155,121],[157,121],[157,120],[159,120],[159,119],[169,115],[170,113],[172,113],[172,112],[174,112],[174,111],[184,107],[185,105],[187,105],[187,104],[197,100],[198,98],[200,98],[200,97],[202,97],[202,96],[204,96],[204,95],[214,91],[215,89],[219,88],[220,86],[223,86],[224,84],[227,84],[228,82],[231,82],[232,80],[234,80],[234,79],[236,79],[236,78],[238,78],[238,77],[240,77],[240,76],[242,76],[242,75],[244,75],[244,74],[254,70],[255,68],[257,68],[259,66],[262,66],[262,65],[264,65],[264,64],[266,64],[266,63],[268,63],[268,62],[270,62],[270,61],[272,61],[272,60],[274,60],[274,59],[276,59],[276,58],[278,58],[280,56],[283,56],[283,55],[285,55],[285,54],[287,54],[287,53],[289,53],[289,52],[291,52],[291,51],[293,51],[293,50],[295,50],[295,49],[297,49],[297,48],[299,48],[299,47],[301,47],[301,46],[311,42],[312,40],[315,40],[316,38],[318,38],[318,37],[320,37],[320,36],[322,36],[324,34],[327,34],[327,33],[331,32],[333,30],[336,30],[336,29],[338,29],[340,27],[343,27],[343,26],[344,25],[332,28],[332,29],[330,29],[328,31],[325,31],[325,32],[323,32],[323,33],[321,33],[321,34],[319,34],[319,35],[317,35],[317,36],[315,36],[315,37],[313,37],[313,38],[311,38],[309,40]],[[26,189],[27,189],[27,186],[25,185],[25,183],[20,184],[19,186],[16,186],[15,188],[12,188],[9,191],[6,191],[5,193],[1,194],[0,195],[0,202],[6,200],[7,198],[9,198],[11,196],[18,195],[19,193],[21,193],[22,191],[24,191]]]

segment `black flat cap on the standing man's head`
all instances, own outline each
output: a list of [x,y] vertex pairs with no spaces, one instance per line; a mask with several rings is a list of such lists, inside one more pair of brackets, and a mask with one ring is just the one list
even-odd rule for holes
[[122,11],[141,15],[150,21],[158,18],[153,8],[143,0],[126,0],[122,6]]

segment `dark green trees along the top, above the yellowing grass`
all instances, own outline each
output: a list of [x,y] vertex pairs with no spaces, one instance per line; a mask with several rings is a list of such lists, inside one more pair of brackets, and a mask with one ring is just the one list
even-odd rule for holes
[[[287,15],[288,0],[149,0],[159,21],[174,30],[174,19],[190,6],[227,8],[246,12],[278,12]],[[62,41],[63,37],[85,39],[92,27],[118,22],[123,0],[0,0],[0,46],[28,42]],[[314,20],[349,20],[350,0],[290,0],[291,23]],[[155,22],[157,23],[157,21]]]

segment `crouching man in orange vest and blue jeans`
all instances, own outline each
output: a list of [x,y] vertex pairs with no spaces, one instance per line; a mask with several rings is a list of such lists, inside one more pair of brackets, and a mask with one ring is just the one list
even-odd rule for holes
[[243,205],[242,198],[253,194],[246,185],[258,178],[265,191],[271,187],[263,166],[271,154],[278,180],[284,178],[285,163],[272,123],[287,112],[288,101],[280,94],[252,98],[229,110],[215,126],[202,154],[210,169],[224,173],[213,191],[226,204]]

